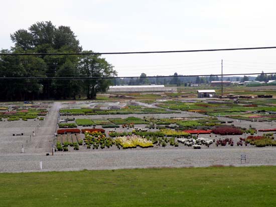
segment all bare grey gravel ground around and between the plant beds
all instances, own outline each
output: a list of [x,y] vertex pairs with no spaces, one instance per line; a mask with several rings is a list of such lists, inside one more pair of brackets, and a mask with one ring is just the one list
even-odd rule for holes
[[[53,134],[56,130],[58,111],[61,104],[53,104],[49,115],[44,121],[14,121],[0,122],[0,172],[27,172],[27,171],[67,171],[81,169],[119,169],[119,168],[147,168],[147,167],[189,167],[210,165],[276,165],[276,148],[257,148],[248,146],[216,146],[212,144],[209,148],[192,149],[179,144],[179,147],[166,146],[148,149],[136,148],[118,150],[116,147],[109,149],[86,149],[80,146],[79,151],[69,149],[69,152],[55,152],[54,156],[46,156],[51,152]],[[126,118],[131,115],[93,115],[75,116],[75,118]],[[180,114],[135,114],[136,117],[202,117],[200,114],[183,112]],[[233,119],[219,117],[220,120],[229,121]],[[38,124],[40,126],[37,129]],[[234,120],[236,126],[246,127],[249,125],[256,128],[276,128],[275,122],[250,122]],[[141,125],[141,127],[144,127]],[[80,127],[82,128],[82,127]],[[108,129],[107,129],[108,130]],[[119,131],[126,129],[117,129]],[[31,136],[35,131],[35,137]],[[24,133],[23,136],[12,136],[13,133]],[[259,132],[258,135],[262,135]],[[235,143],[237,136],[217,136],[212,134],[200,135],[200,137],[217,139],[233,138]],[[27,143],[28,140],[28,143]],[[21,152],[24,144],[25,153]],[[240,155],[246,154],[246,163],[240,163]],[[43,162],[40,169],[39,162]]]

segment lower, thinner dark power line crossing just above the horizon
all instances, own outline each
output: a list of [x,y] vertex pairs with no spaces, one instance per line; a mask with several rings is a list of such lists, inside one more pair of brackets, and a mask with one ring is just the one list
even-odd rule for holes
[[[223,76],[243,76],[243,75],[260,75],[260,74],[273,74],[273,73],[236,73],[236,74],[223,74]],[[221,74],[208,74],[208,75],[179,75],[179,76],[146,76],[142,78],[174,78],[174,77],[210,77],[221,76]],[[94,79],[114,79],[114,78],[141,78],[140,76],[125,76],[125,77],[0,77],[2,79],[56,79],[56,80],[94,80]]]

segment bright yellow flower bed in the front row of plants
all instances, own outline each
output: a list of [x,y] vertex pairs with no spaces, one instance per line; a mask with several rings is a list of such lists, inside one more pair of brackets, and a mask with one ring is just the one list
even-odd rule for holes
[[120,136],[120,137],[116,137],[114,140],[117,147],[118,148],[122,147],[123,149],[136,148],[137,146],[142,148],[148,148],[148,147],[154,146],[151,140],[148,140],[146,138],[143,138],[137,135]]

